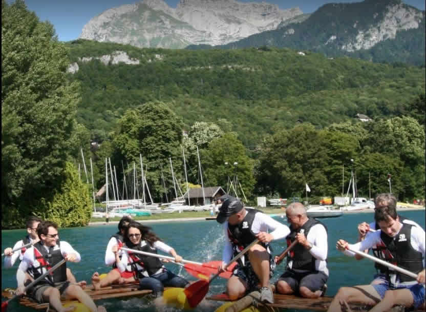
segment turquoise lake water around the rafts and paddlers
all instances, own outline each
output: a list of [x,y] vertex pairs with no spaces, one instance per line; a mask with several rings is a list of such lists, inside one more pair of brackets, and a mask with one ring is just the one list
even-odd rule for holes
[[[406,218],[416,221],[423,228],[425,227],[425,211],[398,211]],[[274,217],[276,220],[287,224],[285,219]],[[330,277],[328,279],[327,295],[336,294],[340,286],[351,286],[356,284],[370,283],[375,274],[374,263],[368,259],[356,261],[354,258],[346,257],[335,248],[337,239],[343,238],[349,242],[357,239],[357,224],[363,221],[372,222],[372,213],[344,214],[339,218],[322,219],[328,227],[328,268]],[[153,231],[163,239],[163,241],[176,249],[179,255],[186,260],[206,262],[220,260],[224,236],[222,226],[216,221],[182,221],[147,223]],[[112,234],[117,231],[117,224],[96,225],[77,228],[63,228],[59,230],[60,239],[69,242],[81,255],[81,262],[67,263],[72,269],[77,280],[86,280],[90,283],[93,272],[107,273],[109,267],[103,263],[105,248]],[[6,247],[22,239],[24,230],[2,231],[2,251]],[[272,242],[273,254],[279,254],[285,249],[285,241]],[[186,273],[180,266],[166,264],[176,274],[179,274],[190,281],[196,280]],[[6,287],[16,287],[16,268],[4,269],[2,267],[2,289]],[[272,279],[274,282],[284,271],[285,261],[276,269]],[[212,281],[209,287],[209,294],[220,294],[224,291],[226,280],[217,278]],[[208,296],[207,295],[207,296]],[[177,312],[179,309],[173,307],[156,308],[152,301],[143,298],[133,299],[108,299],[96,301],[97,304],[104,305],[109,312],[136,312],[136,311],[165,311]],[[195,312],[212,312],[220,302],[204,300]],[[34,309],[19,306],[16,302],[10,303],[8,312],[11,311],[35,311]],[[292,311],[292,310],[288,310]]]

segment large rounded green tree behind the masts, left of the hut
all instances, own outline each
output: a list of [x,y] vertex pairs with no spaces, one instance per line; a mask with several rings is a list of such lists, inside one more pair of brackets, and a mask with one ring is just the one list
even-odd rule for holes
[[[127,110],[118,121],[113,135],[114,159],[121,168],[120,161],[135,161],[140,176],[140,158],[147,168],[145,177],[151,195],[160,199],[163,191],[161,168],[167,167],[172,158],[175,168],[181,168],[181,142],[183,123],[181,118],[163,102],[148,102],[136,109]],[[164,171],[164,178],[172,181],[172,175]],[[182,176],[182,172],[180,172]],[[181,179],[182,180],[182,179]]]

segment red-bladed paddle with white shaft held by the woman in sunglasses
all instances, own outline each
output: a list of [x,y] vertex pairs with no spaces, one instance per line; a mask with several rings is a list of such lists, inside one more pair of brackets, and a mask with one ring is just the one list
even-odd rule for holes
[[[171,260],[171,261],[175,261],[175,258],[173,257],[168,257],[168,256],[163,256],[163,255],[158,255],[158,254],[153,254],[153,253],[147,253],[147,252],[142,252],[142,251],[138,251],[135,249],[130,249],[130,248],[126,248],[126,247],[121,247],[122,250],[127,251],[127,252],[131,252],[131,253],[135,253],[135,254],[141,254],[141,255],[145,255],[145,256],[151,256],[151,257],[155,257],[155,258],[161,258],[161,259],[167,259],[167,260]],[[218,265],[220,263],[222,263],[222,261],[210,261],[210,262],[195,262],[195,261],[189,261],[189,260],[184,260],[182,259],[182,262],[185,263],[183,265],[183,267],[186,269],[186,271],[188,271],[188,273],[192,276],[195,276],[197,278],[204,278],[208,277],[211,274],[214,274],[218,271]],[[176,263],[176,262],[174,262]],[[223,278],[229,278],[231,276],[232,272],[231,271],[226,271],[220,274],[221,277]],[[200,277],[201,275],[201,277]],[[204,276],[204,277],[203,277]]]

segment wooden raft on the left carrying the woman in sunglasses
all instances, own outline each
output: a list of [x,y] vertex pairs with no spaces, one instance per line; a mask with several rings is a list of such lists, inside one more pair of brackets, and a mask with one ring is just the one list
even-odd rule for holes
[[[138,284],[126,284],[126,285],[112,285],[108,287],[102,287],[100,290],[94,290],[92,285],[88,285],[84,291],[89,294],[89,296],[93,299],[93,301],[96,300],[102,300],[102,299],[113,299],[113,298],[125,298],[125,297],[143,297],[147,294],[152,293],[152,290],[138,290]],[[7,299],[12,298],[14,295],[15,289],[13,288],[6,288],[2,292],[2,297],[5,297]],[[62,302],[65,301],[71,301],[71,300],[62,300]],[[49,304],[48,303],[38,303],[35,302],[28,297],[22,297],[19,300],[19,303],[27,306],[32,307],[34,309],[46,309]]]

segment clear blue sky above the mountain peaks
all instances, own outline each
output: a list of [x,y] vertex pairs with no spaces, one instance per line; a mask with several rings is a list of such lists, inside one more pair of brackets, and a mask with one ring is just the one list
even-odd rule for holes
[[[239,0],[240,2],[253,2],[252,0]],[[263,0],[276,4],[280,9],[299,7],[303,13],[312,13],[323,4],[330,2],[349,3],[359,2],[353,0]],[[11,1],[8,1],[9,3]],[[13,2],[13,1],[12,1]],[[76,39],[84,25],[89,20],[105,10],[123,4],[133,4],[132,0],[25,0],[27,7],[34,11],[41,20],[49,20],[55,26],[59,40],[69,41]],[[176,8],[179,0],[165,0],[172,8]],[[255,2],[262,2],[261,0]],[[406,4],[424,10],[424,0],[404,0]]]

